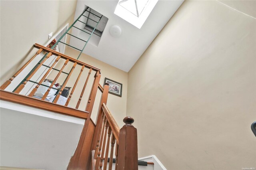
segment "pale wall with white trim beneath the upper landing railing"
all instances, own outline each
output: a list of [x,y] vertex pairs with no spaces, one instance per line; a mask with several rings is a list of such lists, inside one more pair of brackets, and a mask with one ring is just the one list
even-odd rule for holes
[[0,112],[0,166],[66,169],[84,119],[7,101],[1,101]]

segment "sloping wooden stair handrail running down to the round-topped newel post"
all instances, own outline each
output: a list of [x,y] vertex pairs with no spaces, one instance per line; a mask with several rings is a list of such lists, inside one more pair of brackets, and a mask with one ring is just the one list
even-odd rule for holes
[[112,116],[111,112],[108,110],[108,107],[106,106],[105,103],[102,104],[102,110],[107,118],[107,121],[113,131],[113,134],[116,138],[116,142],[117,144],[119,143],[119,131],[120,131],[120,128],[119,126],[117,125],[114,117]]

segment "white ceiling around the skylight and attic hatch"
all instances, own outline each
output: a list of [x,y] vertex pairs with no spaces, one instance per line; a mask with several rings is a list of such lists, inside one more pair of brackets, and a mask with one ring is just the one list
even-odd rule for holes
[[[90,43],[94,41],[94,37],[92,37],[86,45],[84,53],[128,72],[183,1],[159,0],[142,28],[138,29],[114,14],[117,0],[79,0],[76,6],[75,20],[82,13],[85,5],[108,18],[108,23],[98,47]],[[82,23],[77,24],[80,24],[79,28],[83,28]],[[110,35],[109,30],[114,25],[122,29],[119,38]],[[73,35],[81,36],[81,33],[77,29],[72,29]],[[71,38],[70,45],[82,49],[84,44],[75,38]]]

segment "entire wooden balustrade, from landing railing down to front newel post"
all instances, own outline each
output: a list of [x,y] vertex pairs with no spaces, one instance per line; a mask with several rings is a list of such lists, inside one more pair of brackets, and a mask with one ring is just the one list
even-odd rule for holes
[[[120,129],[114,120],[114,117],[106,107],[107,99],[108,99],[108,83],[105,83],[104,87],[99,84],[100,81],[100,69],[73,59],[67,55],[54,51],[53,49],[44,47],[39,44],[34,44],[34,47],[38,49],[35,55],[24,65],[22,66],[9,80],[7,80],[1,87],[0,99],[12,101],[24,105],[29,105],[32,107],[37,107],[40,109],[50,110],[58,113],[64,113],[66,115],[76,116],[83,119],[86,119],[84,128],[82,130],[82,134],[80,136],[78,146],[74,153],[74,156],[70,159],[70,164],[68,166],[68,170],[82,168],[87,169],[93,167],[96,170],[101,170],[102,168],[106,170],[108,163],[108,154],[110,152],[110,160],[109,160],[109,169],[112,169],[112,162],[115,156],[116,167],[117,170],[136,170],[138,169],[138,149],[137,149],[137,130],[133,127],[132,123],[134,120],[131,117],[124,118],[125,125]],[[36,64],[30,74],[27,75],[23,81],[18,84],[12,92],[4,91],[9,85],[12,85],[13,80],[19,76],[22,71],[28,67],[30,62],[32,62],[37,55],[42,52],[47,53],[47,56]],[[55,56],[54,62],[47,67],[48,70],[40,77],[38,82],[32,81],[34,75],[37,75],[40,67],[45,67],[44,63],[51,57]],[[56,64],[63,60],[64,64],[60,63],[61,69],[54,68]],[[68,73],[64,72],[64,68],[71,64],[72,67]],[[78,75],[74,74],[74,69],[76,67],[80,67],[80,72]],[[82,85],[82,91],[80,91],[80,97],[76,102],[76,108],[68,107],[68,104],[73,99],[72,94],[76,90],[78,86],[78,81],[81,78],[81,74],[83,70],[87,68],[89,69],[88,75]],[[38,90],[38,88],[43,85],[42,82],[45,78],[48,77],[52,70],[58,71],[58,74],[54,77],[51,85],[46,86],[48,90],[44,93],[41,99],[34,98],[34,94]],[[88,97],[88,102],[86,103],[84,114],[80,113],[78,107],[80,106],[82,97],[84,96],[86,86],[88,84],[88,79],[92,71],[95,72],[94,82],[92,83],[92,89],[90,90],[90,95]],[[45,101],[48,93],[51,89],[54,89],[54,82],[58,80],[60,77],[60,73],[66,73],[66,78],[62,84],[62,87],[58,89],[57,95],[55,99],[50,103],[49,101]],[[74,85],[71,87],[70,95],[65,103],[65,105],[61,106],[57,104],[58,99],[60,98],[64,87],[66,86],[70,77],[76,77],[76,81]],[[27,83],[34,83],[34,87],[30,89],[28,95],[20,95],[19,93],[26,87]],[[81,82],[81,81],[79,81]],[[97,90],[102,92],[102,97],[100,100],[98,116],[96,120],[96,125],[90,120],[92,109],[94,106],[94,101],[96,97]],[[111,145],[111,146],[110,146]],[[114,147],[116,150],[114,151]],[[93,161],[90,161],[89,153],[92,150],[96,150],[95,154],[91,157]],[[114,155],[115,154],[115,155]],[[104,161],[104,164],[103,164]],[[92,163],[93,162],[93,163]]]

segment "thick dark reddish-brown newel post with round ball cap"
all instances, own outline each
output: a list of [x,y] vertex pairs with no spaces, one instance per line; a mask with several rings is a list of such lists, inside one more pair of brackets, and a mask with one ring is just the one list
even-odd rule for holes
[[118,170],[138,170],[137,129],[132,117],[124,118],[125,125],[119,131]]

